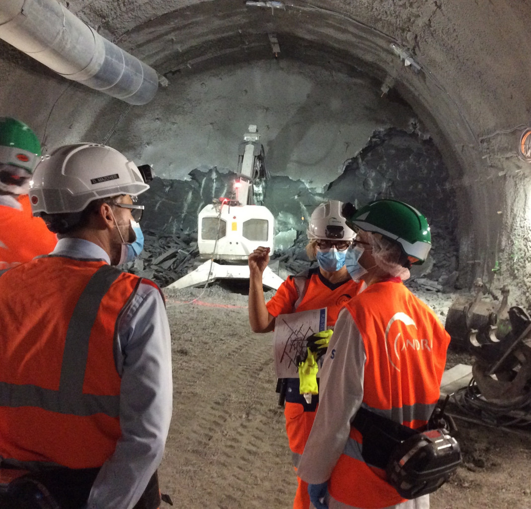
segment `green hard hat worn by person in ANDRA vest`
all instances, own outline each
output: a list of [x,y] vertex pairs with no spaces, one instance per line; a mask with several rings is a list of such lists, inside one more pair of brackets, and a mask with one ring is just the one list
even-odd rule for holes
[[380,233],[398,242],[406,255],[416,258],[412,263],[421,265],[431,249],[430,226],[418,210],[398,200],[371,201],[347,217],[353,230]]

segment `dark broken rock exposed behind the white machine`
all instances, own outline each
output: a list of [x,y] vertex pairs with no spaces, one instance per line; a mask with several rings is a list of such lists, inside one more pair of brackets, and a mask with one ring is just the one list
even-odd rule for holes
[[[197,215],[218,197],[230,196],[236,174],[194,169],[189,180],[156,178],[141,195],[145,206],[142,228],[145,248],[141,262],[129,266],[165,286],[184,276],[198,255]],[[434,200],[433,196],[440,199]],[[276,219],[275,253],[293,274],[307,268],[307,221],[313,209],[329,199],[367,203],[373,199],[405,197],[423,210],[432,227],[429,262],[413,269],[410,287],[447,291],[457,274],[456,204],[448,187],[448,171],[431,139],[418,133],[388,129],[371,137],[367,146],[345,163],[344,171],[325,188],[309,181],[272,175],[264,186],[263,205]],[[423,276],[423,277],[421,277]],[[429,279],[427,279],[429,278]]]

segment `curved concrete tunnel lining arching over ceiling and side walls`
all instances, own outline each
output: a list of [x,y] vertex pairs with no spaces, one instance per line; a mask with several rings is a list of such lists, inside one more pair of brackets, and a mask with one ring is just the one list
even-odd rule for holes
[[[450,171],[463,280],[510,278],[529,302],[530,169],[516,156],[519,129],[531,122],[531,14],[523,4],[494,0],[487,8],[459,0],[330,0],[320,8],[297,3],[271,12],[235,0],[88,6],[72,0],[70,9],[176,88],[186,73],[272,58],[268,33],[277,34],[280,58],[350,68],[353,74],[363,69],[382,83],[392,78]],[[392,41],[412,55],[421,72],[404,66],[389,47]],[[68,84],[52,73],[0,49],[3,113],[27,121],[40,135],[48,123],[48,147],[79,139],[118,143],[122,122],[150,111],[149,106],[127,109],[79,85],[66,89]],[[127,148],[116,143],[120,150]],[[496,260],[500,270],[493,272]]]

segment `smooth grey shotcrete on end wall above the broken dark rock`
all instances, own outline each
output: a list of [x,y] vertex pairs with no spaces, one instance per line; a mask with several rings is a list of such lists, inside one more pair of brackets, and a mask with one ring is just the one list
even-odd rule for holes
[[161,178],[184,179],[195,168],[236,171],[238,144],[255,124],[271,174],[322,187],[375,130],[416,125],[407,104],[381,95],[363,75],[271,58],[170,80],[109,143]]

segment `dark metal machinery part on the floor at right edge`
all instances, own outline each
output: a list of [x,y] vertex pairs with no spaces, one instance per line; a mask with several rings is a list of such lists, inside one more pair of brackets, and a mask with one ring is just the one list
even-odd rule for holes
[[477,280],[472,301],[458,297],[448,311],[452,343],[474,356],[472,379],[453,402],[485,424],[531,429],[531,318],[519,306],[507,309],[506,287],[499,304],[482,300],[487,293]]

